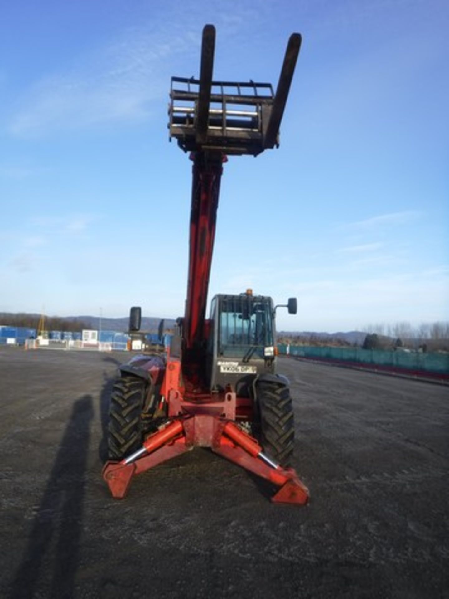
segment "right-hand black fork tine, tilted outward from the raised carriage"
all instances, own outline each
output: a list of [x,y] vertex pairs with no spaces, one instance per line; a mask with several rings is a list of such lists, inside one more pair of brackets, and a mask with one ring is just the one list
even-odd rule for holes
[[299,49],[301,48],[301,34],[290,35],[287,44],[286,55],[281,69],[274,102],[271,109],[271,115],[265,132],[264,148],[272,148],[277,144],[279,127],[286,107],[287,96],[290,91],[293,73],[295,72],[296,60],[298,59]]

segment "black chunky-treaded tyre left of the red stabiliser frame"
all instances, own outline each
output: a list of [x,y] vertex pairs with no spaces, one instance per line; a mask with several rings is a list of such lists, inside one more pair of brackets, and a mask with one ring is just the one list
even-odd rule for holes
[[110,459],[122,460],[141,447],[145,432],[142,411],[147,392],[148,384],[134,376],[121,376],[114,383],[108,425]]

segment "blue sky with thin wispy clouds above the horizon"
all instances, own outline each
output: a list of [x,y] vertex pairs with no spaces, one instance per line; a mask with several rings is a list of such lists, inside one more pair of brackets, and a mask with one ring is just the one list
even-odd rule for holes
[[449,4],[8,2],[0,20],[0,311],[183,313],[191,163],[171,75],[277,83],[281,145],[230,158],[210,297],[298,297],[278,329],[448,320]]

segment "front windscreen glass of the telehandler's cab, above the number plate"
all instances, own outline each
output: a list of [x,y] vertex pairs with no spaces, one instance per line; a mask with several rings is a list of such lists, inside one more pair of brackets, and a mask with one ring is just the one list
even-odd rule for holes
[[274,345],[269,298],[222,297],[219,313],[219,355],[263,358],[263,348]]

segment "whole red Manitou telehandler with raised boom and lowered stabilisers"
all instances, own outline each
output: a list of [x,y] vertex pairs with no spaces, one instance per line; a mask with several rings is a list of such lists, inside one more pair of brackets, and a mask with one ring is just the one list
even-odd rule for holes
[[[216,295],[206,318],[223,163],[278,146],[300,46],[301,35],[292,34],[276,93],[268,83],[213,81],[215,28],[206,25],[199,79],[172,77],[170,137],[193,161],[186,310],[166,356],[135,356],[120,367],[103,469],[113,497],[125,497],[135,474],[200,446],[271,482],[272,501],[307,503],[289,467],[289,381],[275,372],[278,306],[248,289]],[[296,314],[296,298],[284,307]],[[130,330],[140,322],[140,308],[131,308]]]

